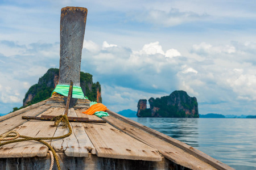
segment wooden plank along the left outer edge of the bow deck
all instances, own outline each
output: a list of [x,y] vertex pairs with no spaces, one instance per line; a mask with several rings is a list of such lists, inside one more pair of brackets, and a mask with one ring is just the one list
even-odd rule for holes
[[22,119],[22,116],[37,116],[38,114],[47,111],[51,106],[49,105],[41,105],[37,108],[31,109],[30,111],[20,113],[17,116],[7,118],[0,122],[0,134],[5,134],[10,130],[24,124],[28,120]]

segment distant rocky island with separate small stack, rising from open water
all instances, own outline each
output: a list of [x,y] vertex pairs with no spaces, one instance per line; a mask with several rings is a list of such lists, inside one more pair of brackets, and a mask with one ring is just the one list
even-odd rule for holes
[[174,91],[169,96],[150,98],[138,102],[138,117],[199,117],[196,97],[189,97],[185,91]]

